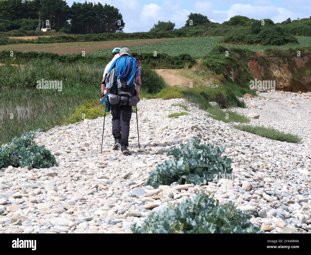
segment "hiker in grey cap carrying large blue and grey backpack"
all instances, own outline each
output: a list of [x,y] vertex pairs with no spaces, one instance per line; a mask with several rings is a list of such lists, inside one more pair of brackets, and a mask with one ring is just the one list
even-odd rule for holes
[[120,50],[118,57],[111,65],[105,78],[112,115],[112,134],[114,146],[112,149],[119,150],[123,154],[129,153],[128,136],[130,132],[130,120],[132,106],[140,101],[140,61],[131,56],[126,47]]

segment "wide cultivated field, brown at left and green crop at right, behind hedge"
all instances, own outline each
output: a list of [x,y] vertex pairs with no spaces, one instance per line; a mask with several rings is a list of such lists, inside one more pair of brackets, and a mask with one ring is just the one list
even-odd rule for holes
[[[53,52],[58,54],[77,53],[82,50],[87,52],[87,56],[111,56],[111,50],[115,47],[128,47],[132,52],[140,54],[166,53],[171,56],[187,53],[193,58],[203,58],[215,45],[223,45],[226,48],[239,48],[255,51],[262,51],[268,48],[288,49],[303,48],[311,46],[311,37],[301,36],[298,38],[298,44],[288,44],[281,46],[264,45],[228,45],[219,43],[222,36],[192,37],[192,38],[174,38],[172,39],[151,39],[151,40],[120,40],[105,42],[74,42],[74,43],[55,43],[55,44],[16,44],[1,45],[0,50]],[[105,49],[103,49],[105,48]],[[98,50],[99,49],[99,50]]]

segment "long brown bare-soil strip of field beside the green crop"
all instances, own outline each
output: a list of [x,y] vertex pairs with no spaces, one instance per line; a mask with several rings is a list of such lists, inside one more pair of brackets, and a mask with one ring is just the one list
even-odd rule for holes
[[44,51],[53,52],[58,54],[65,53],[81,53],[82,50],[85,52],[110,49],[115,47],[128,47],[133,45],[142,45],[146,43],[156,43],[168,40],[179,40],[180,38],[162,38],[162,39],[144,39],[144,40],[114,40],[114,41],[100,41],[100,42],[70,42],[70,43],[50,43],[50,44],[10,44],[1,45],[1,50],[16,50],[16,51]]

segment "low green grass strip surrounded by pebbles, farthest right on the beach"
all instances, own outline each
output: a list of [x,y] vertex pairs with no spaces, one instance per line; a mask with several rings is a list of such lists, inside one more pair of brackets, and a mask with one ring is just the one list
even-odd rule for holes
[[295,143],[295,144],[301,143],[301,138],[299,136],[286,134],[272,127],[266,128],[262,126],[234,125],[234,128],[276,141]]

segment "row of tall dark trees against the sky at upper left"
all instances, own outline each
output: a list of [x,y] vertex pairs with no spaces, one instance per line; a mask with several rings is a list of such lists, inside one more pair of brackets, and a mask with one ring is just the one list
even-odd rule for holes
[[125,25],[118,8],[107,4],[85,1],[69,7],[64,0],[0,0],[0,31],[41,29],[46,20],[51,29],[79,34],[114,33]]

